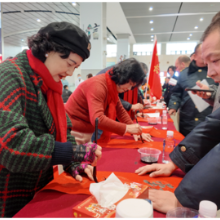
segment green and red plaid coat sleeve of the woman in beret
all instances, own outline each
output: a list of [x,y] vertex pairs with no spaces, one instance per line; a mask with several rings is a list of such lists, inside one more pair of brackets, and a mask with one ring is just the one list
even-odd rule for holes
[[[2,66],[2,69],[4,65]],[[54,136],[48,133],[36,136],[26,117],[34,118],[38,109],[25,115],[32,105],[24,79],[18,72],[0,72],[0,164],[13,173],[46,170],[51,166]],[[6,69],[6,68],[4,68]],[[13,73],[11,73],[13,72]],[[38,131],[45,128],[34,126]]]

